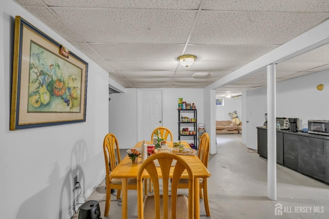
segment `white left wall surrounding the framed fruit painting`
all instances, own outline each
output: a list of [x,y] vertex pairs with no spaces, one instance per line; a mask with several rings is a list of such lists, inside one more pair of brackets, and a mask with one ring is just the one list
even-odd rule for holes
[[[78,202],[83,203],[105,175],[102,143],[108,132],[108,74],[15,2],[2,1],[0,6],[1,217],[64,218],[78,195],[72,193],[74,176],[78,174],[82,186]],[[89,64],[85,123],[9,131],[15,15]]]

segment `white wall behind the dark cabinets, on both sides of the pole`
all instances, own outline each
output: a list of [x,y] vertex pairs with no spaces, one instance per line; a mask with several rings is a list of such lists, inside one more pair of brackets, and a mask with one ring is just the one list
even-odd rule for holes
[[[329,70],[308,74],[277,83],[277,117],[297,117],[307,127],[307,120],[329,120]],[[317,85],[323,84],[319,91]],[[263,126],[266,113],[266,87],[246,91],[247,112],[249,121],[247,147],[257,149],[257,126]]]

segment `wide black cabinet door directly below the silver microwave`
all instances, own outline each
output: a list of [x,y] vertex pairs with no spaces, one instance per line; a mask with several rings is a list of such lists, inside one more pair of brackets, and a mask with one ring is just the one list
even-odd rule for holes
[[324,181],[323,141],[313,137],[298,137],[298,170],[322,181]]

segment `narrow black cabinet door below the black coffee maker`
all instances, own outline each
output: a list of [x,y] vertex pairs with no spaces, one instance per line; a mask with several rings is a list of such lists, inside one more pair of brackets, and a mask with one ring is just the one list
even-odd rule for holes
[[284,165],[294,170],[298,170],[298,145],[299,137],[295,134],[283,135],[283,161]]

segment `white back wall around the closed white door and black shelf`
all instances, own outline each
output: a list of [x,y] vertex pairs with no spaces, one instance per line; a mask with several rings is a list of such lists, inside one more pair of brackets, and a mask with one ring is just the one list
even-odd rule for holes
[[[162,90],[162,126],[171,130],[174,141],[178,140],[177,108],[179,97],[187,103],[196,105],[197,123],[204,123],[203,89],[163,88]],[[120,148],[129,149],[135,146],[137,142],[137,89],[127,88],[125,93],[110,94],[110,96],[109,132],[116,135]]]

